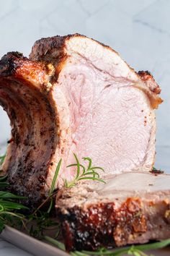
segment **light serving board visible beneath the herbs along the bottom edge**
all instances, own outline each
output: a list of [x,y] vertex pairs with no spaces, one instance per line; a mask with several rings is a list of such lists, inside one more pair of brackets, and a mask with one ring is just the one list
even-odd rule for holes
[[[9,226],[6,226],[4,231],[0,234],[0,237],[11,244],[16,245],[17,247],[24,249],[27,252],[30,252],[35,256],[68,256],[67,252],[63,252],[57,247],[53,247],[46,242],[41,242],[32,236],[28,236],[17,229],[13,229]],[[146,252],[147,255],[154,256],[170,256],[170,247],[164,249],[157,249]]]

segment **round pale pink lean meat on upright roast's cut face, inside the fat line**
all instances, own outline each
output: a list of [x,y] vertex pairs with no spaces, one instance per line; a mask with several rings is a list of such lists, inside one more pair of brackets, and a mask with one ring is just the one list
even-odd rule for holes
[[154,116],[147,95],[133,82],[110,77],[79,59],[61,72],[54,98],[62,102],[59,116],[68,139],[63,178],[75,175],[66,168],[75,163],[73,153],[104,168],[102,176],[139,170],[145,164]]

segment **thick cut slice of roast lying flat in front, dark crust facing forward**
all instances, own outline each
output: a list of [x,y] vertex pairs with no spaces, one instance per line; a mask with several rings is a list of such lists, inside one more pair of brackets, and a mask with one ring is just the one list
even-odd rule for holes
[[56,198],[66,249],[143,244],[170,237],[170,175],[124,173]]

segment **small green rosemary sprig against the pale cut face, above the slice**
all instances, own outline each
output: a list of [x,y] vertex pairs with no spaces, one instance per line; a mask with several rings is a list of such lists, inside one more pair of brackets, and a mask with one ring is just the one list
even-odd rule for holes
[[86,168],[86,166],[82,165],[79,162],[79,159],[77,158],[76,154],[73,154],[74,158],[76,160],[76,163],[70,164],[67,166],[67,168],[69,167],[76,167],[76,176],[73,179],[73,181],[71,182],[67,182],[67,180],[65,180],[65,187],[73,187],[76,185],[77,182],[84,180],[84,179],[91,179],[93,181],[97,181],[97,182],[104,182],[103,179],[100,179],[100,176],[97,172],[97,170],[100,171],[104,171],[103,168],[98,167],[98,166],[92,166],[92,161],[91,158],[82,158],[84,161],[88,161],[88,166]]

